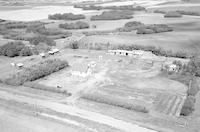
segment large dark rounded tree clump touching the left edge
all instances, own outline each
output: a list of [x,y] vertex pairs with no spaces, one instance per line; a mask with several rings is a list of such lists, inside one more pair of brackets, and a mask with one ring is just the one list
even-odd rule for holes
[[31,47],[25,46],[20,41],[8,42],[0,47],[0,55],[15,57],[15,56],[31,56],[37,51]]

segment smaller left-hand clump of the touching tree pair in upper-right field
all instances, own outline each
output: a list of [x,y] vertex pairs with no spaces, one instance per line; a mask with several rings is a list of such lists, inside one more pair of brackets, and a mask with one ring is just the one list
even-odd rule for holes
[[139,28],[144,27],[144,23],[138,22],[138,21],[131,21],[124,25],[124,27],[119,28],[118,31],[120,32],[131,32],[133,30],[137,30]]

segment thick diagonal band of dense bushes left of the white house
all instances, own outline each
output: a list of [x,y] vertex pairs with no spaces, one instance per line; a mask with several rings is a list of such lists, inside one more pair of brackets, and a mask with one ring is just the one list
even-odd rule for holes
[[23,71],[5,80],[9,85],[22,85],[27,81],[35,81],[39,78],[50,75],[53,72],[59,71],[68,66],[67,61],[59,59],[49,59],[42,61],[36,65],[24,68]]

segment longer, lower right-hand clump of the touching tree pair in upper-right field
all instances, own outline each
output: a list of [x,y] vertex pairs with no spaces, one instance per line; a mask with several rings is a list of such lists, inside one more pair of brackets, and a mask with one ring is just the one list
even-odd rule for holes
[[137,34],[153,34],[153,33],[171,32],[171,31],[173,31],[173,28],[169,27],[168,25],[153,24],[138,28]]

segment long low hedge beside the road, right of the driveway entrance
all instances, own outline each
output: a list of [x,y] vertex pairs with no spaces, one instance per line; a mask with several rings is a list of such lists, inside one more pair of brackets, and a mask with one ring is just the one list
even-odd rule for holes
[[116,98],[107,97],[105,95],[84,94],[81,98],[91,100],[91,101],[95,101],[95,102],[98,102],[98,103],[105,103],[105,104],[112,105],[112,106],[122,107],[122,108],[125,108],[125,109],[128,109],[128,110],[134,110],[134,111],[143,112],[143,113],[149,112],[143,106],[135,105],[133,103],[125,102],[123,100],[119,100],[119,99],[116,99]]

